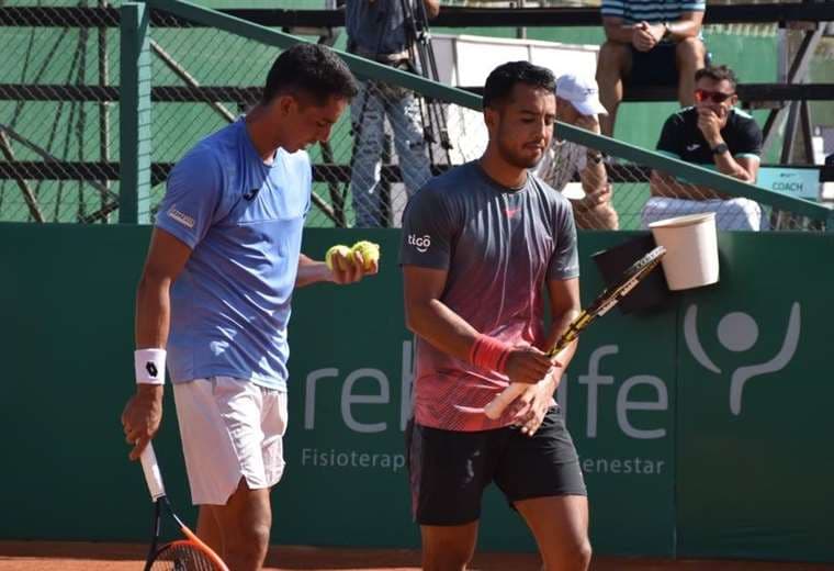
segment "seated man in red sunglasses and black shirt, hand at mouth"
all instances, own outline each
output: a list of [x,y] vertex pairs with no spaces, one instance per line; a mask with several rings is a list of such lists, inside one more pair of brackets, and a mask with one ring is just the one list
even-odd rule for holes
[[[762,130],[734,108],[735,74],[726,67],[706,67],[695,74],[695,107],[666,120],[657,150],[729,177],[755,183],[762,154]],[[720,229],[762,229],[762,209],[748,199],[732,198],[709,188],[653,171],[652,198],[643,208],[643,224],[683,214],[715,212]]]

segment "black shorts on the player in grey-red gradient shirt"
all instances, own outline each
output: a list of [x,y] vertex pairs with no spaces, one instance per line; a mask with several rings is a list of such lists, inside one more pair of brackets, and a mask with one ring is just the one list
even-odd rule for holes
[[406,427],[412,511],[420,525],[463,525],[481,516],[491,482],[512,505],[519,500],[587,495],[562,410],[548,411],[530,437],[519,428],[463,433]]

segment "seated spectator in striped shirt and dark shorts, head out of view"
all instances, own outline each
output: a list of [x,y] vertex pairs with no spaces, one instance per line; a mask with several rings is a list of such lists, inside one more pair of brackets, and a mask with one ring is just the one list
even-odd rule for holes
[[680,105],[695,102],[692,77],[707,56],[705,9],[705,0],[602,0],[607,41],[599,49],[597,82],[608,110],[600,119],[604,135],[613,136],[623,83],[678,86]]

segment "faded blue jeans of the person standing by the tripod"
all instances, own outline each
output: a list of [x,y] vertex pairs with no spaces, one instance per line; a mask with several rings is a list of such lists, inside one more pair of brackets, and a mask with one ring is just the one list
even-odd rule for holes
[[397,98],[386,97],[373,82],[369,89],[369,82],[365,81],[353,98],[350,115],[356,134],[350,173],[356,213],[353,225],[377,227],[382,225],[380,175],[386,116],[394,132],[394,146],[406,193],[410,197],[431,178],[420,110],[410,91],[403,91],[402,97]]

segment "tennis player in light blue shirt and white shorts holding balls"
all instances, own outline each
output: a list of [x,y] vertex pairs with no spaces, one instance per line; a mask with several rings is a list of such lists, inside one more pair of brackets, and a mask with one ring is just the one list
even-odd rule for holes
[[261,102],[171,171],[139,282],[137,389],[122,414],[131,458],[159,428],[167,365],[196,533],[236,571],[260,569],[269,546],[293,289],[376,272],[361,256],[330,270],[301,254],[312,184],[304,147],[327,141],[356,93],[328,48],[283,52]]

